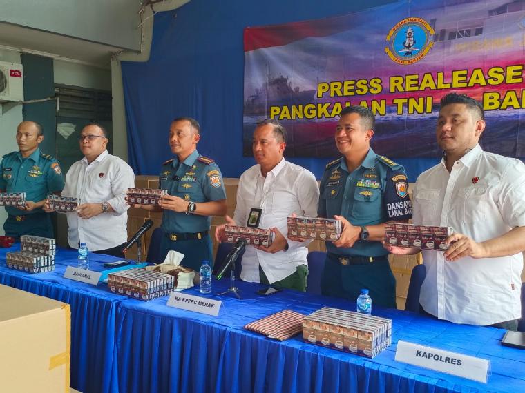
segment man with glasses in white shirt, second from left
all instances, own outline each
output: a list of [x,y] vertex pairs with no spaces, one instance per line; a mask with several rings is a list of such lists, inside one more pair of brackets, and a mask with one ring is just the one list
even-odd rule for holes
[[[84,158],[71,165],[66,174],[64,196],[82,199],[78,214],[68,212],[68,243],[79,248],[87,243],[90,251],[124,256],[129,205],[125,196],[135,186],[135,174],[119,157],[108,154],[106,130],[97,124],[86,125],[79,137]],[[46,204],[46,212],[49,209]]]

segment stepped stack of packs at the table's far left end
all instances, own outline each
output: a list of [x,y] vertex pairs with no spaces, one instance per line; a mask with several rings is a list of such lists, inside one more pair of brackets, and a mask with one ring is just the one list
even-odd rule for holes
[[21,251],[8,252],[8,268],[28,273],[52,272],[55,270],[55,239],[23,235],[20,237]]

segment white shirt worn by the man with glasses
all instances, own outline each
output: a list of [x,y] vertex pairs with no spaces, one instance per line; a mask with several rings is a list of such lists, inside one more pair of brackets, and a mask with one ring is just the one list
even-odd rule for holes
[[70,247],[78,248],[79,242],[86,242],[89,250],[99,251],[125,243],[129,206],[124,198],[126,190],[133,187],[135,174],[131,167],[107,150],[90,164],[84,157],[71,165],[62,195],[82,198],[82,203],[107,202],[115,212],[101,213],[90,219],[66,213]]

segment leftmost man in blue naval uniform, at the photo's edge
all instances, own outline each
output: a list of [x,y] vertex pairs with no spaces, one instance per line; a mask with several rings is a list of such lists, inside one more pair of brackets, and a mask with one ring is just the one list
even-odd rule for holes
[[64,188],[60,165],[55,158],[40,152],[44,133],[38,123],[20,123],[16,138],[19,151],[6,154],[0,163],[0,191],[25,192],[26,207],[6,206],[8,218],[3,230],[16,239],[23,234],[54,237],[50,216],[42,206],[48,194],[58,194]]

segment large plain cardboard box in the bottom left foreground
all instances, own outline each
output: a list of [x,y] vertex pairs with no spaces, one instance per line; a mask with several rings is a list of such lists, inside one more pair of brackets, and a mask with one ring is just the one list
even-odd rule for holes
[[71,310],[0,285],[1,391],[69,392]]

